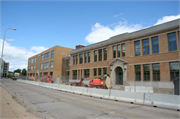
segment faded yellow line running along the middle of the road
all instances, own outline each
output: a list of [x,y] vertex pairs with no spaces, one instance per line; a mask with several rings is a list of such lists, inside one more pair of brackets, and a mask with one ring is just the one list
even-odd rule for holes
[[[56,97],[56,98],[59,98],[59,99],[62,99],[62,100],[71,101],[69,99],[66,99],[66,98],[63,98],[63,97],[60,97],[60,96],[56,96],[56,95],[53,95],[53,94],[50,94],[50,93],[45,93],[45,92],[37,90],[37,89],[32,89],[32,88],[29,88],[29,89],[37,91],[37,92],[41,92],[41,93],[44,93],[46,95],[49,95],[49,96],[52,96],[52,97]],[[87,104],[76,102],[76,101],[71,101],[71,102],[79,104],[79,105],[82,105],[82,106],[86,106],[86,107],[89,107],[89,108],[93,108],[93,109],[101,110],[101,111],[104,111],[104,112],[109,112],[109,113],[113,113],[113,114],[120,115],[120,116],[123,116],[123,117],[131,118],[131,119],[142,119],[142,118],[139,118],[139,117],[134,117],[134,116],[130,116],[130,115],[126,115],[126,114],[120,113],[120,112],[115,112],[115,111],[111,111],[111,110],[106,110],[106,109],[98,108],[98,107],[95,107],[95,106],[87,105]]]

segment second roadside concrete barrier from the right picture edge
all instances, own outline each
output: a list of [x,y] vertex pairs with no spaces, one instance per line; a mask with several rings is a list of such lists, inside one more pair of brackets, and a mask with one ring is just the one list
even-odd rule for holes
[[111,90],[109,99],[134,104],[143,104],[144,93]]

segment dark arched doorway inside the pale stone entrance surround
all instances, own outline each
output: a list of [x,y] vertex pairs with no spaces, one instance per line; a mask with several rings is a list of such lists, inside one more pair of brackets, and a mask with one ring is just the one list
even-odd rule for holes
[[123,70],[121,67],[116,68],[116,85],[123,85]]

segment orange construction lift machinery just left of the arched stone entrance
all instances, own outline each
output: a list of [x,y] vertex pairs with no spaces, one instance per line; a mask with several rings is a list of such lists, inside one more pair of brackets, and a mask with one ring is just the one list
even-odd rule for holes
[[88,87],[88,88],[108,89],[110,85],[110,77],[108,75],[101,75],[101,76],[82,78],[80,82],[71,82],[70,85]]

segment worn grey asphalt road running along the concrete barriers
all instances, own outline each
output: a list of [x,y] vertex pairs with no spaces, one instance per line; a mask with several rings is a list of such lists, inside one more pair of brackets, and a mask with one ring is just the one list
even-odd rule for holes
[[66,93],[11,79],[2,79],[1,83],[44,119],[180,118],[175,110]]

